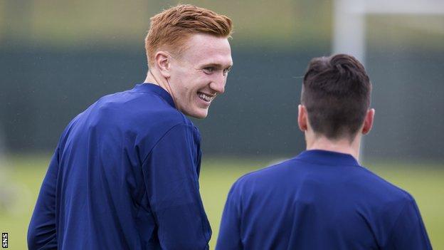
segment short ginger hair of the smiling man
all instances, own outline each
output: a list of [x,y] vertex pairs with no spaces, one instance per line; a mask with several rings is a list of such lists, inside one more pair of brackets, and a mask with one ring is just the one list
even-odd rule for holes
[[154,61],[156,51],[161,49],[180,55],[191,35],[203,33],[228,38],[233,29],[231,19],[227,16],[189,4],[166,9],[150,20],[151,26],[145,38],[149,65]]

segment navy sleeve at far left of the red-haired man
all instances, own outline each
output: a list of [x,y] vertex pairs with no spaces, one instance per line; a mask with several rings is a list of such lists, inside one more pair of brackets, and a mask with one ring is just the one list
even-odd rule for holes
[[54,152],[45,179],[38,194],[28,227],[28,249],[56,249],[56,184],[58,175],[58,148]]

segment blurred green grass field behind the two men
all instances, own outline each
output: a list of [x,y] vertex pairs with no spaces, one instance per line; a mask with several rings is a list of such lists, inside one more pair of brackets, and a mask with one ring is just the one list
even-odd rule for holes
[[[49,156],[10,157],[0,169],[0,231],[9,233],[9,249],[26,249],[26,231]],[[231,184],[270,160],[205,158],[201,194],[211,222],[214,249],[223,204]],[[416,198],[434,249],[444,249],[444,166],[379,163],[366,165]],[[401,167],[403,166],[403,167]],[[7,168],[6,168],[7,167]]]

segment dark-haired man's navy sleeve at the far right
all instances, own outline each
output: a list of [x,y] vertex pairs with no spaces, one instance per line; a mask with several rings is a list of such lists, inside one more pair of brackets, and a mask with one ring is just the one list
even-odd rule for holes
[[383,249],[432,249],[415,199],[409,195]]

